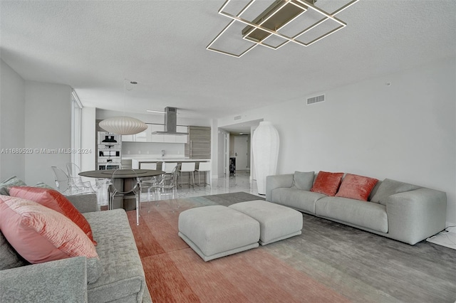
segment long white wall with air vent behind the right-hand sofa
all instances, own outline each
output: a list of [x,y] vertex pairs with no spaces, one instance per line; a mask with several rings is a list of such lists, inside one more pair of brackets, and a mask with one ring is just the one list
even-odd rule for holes
[[[456,223],[455,58],[242,113],[279,131],[278,174],[343,171],[447,193]],[[391,83],[387,86],[385,83]],[[219,127],[234,117],[219,119]]]

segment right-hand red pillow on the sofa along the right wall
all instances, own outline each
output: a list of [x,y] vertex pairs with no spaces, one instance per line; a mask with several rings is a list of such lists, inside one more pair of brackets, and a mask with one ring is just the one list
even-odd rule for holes
[[368,201],[369,194],[378,180],[366,176],[346,174],[336,197]]

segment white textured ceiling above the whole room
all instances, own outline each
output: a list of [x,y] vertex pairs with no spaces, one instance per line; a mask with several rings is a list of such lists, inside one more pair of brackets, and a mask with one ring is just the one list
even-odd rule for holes
[[205,49],[229,22],[222,4],[1,0],[1,58],[26,80],[71,85],[85,106],[123,111],[126,78],[138,82],[126,95],[132,112],[218,118],[456,53],[454,0],[361,0],[337,15],[346,28],[312,46],[242,58]]

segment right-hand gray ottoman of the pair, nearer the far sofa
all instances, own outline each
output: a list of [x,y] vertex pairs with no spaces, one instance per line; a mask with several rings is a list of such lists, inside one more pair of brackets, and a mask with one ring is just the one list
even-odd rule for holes
[[259,222],[259,243],[266,245],[301,235],[302,213],[274,203],[255,200],[229,206]]

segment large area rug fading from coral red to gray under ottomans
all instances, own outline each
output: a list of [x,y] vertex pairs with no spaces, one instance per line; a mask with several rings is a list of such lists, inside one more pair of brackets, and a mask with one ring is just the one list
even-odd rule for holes
[[455,250],[407,245],[304,216],[303,234],[204,262],[177,235],[189,208],[261,200],[229,193],[128,211],[153,302],[455,302]]

